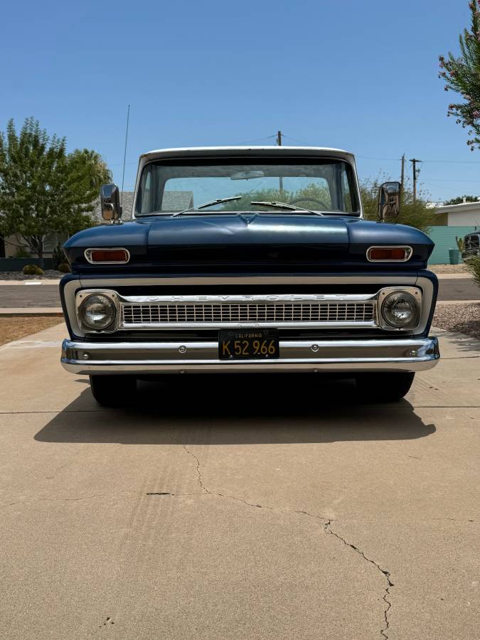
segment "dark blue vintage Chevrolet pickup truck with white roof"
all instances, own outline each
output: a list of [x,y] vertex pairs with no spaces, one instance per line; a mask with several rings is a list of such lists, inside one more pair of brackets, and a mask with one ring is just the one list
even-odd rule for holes
[[60,284],[61,361],[101,404],[166,373],[336,373],[396,400],[437,363],[433,242],[388,224],[399,183],[380,186],[380,222],[363,219],[347,151],[150,151],[132,221],[120,224],[117,186],[101,197],[113,224],[65,243]]

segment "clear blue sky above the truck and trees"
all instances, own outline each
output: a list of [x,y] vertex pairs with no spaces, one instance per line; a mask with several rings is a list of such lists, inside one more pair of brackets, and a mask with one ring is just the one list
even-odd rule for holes
[[361,177],[398,178],[405,152],[433,199],[480,195],[480,151],[437,78],[468,22],[467,0],[9,2],[0,129],[33,115],[121,183],[130,104],[126,189],[143,151],[274,144],[282,129],[285,144],[353,151]]

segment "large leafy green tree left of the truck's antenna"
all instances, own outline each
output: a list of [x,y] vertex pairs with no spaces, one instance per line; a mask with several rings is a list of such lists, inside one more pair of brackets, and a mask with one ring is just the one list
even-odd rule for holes
[[18,134],[10,120],[0,133],[0,236],[18,235],[42,258],[47,235],[95,224],[98,188],[110,180],[95,151],[68,154],[65,138],[48,136],[32,117]]

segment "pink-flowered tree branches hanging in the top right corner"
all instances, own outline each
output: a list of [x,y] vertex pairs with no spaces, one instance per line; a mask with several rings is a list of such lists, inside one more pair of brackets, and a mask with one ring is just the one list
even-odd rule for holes
[[449,52],[447,58],[439,56],[439,77],[445,80],[445,91],[458,93],[464,102],[452,103],[447,115],[454,116],[457,124],[468,128],[466,141],[473,151],[480,147],[480,11],[479,0],[469,2],[470,28],[459,35],[461,55]]

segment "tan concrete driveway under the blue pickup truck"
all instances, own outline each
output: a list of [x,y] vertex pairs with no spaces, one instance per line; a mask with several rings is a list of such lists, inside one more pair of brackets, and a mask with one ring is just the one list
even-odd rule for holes
[[0,636],[478,640],[480,343],[438,334],[385,406],[225,376],[106,410],[63,326],[0,348]]

